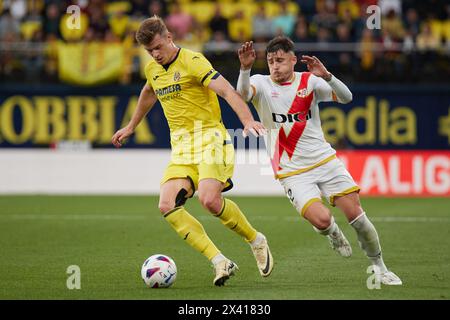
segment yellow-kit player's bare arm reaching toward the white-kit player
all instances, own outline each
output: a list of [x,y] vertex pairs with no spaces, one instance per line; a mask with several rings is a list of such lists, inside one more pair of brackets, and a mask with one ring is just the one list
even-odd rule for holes
[[234,112],[236,112],[239,120],[241,120],[244,125],[244,136],[247,136],[249,132],[255,136],[264,135],[266,133],[262,123],[255,121],[247,104],[224,77],[219,76],[218,78],[211,80],[208,88],[224,98]]

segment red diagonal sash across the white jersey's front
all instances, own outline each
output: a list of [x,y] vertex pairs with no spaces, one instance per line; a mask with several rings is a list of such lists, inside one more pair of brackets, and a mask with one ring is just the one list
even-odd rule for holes
[[283,155],[283,152],[289,156],[289,159],[292,158],[292,154],[294,153],[295,146],[297,145],[298,140],[303,134],[303,130],[306,127],[306,116],[308,114],[309,108],[311,107],[311,102],[314,95],[309,93],[308,95],[304,95],[308,87],[308,79],[311,76],[310,72],[303,72],[302,78],[300,80],[300,84],[297,88],[297,94],[295,95],[294,101],[292,102],[291,108],[288,111],[288,114],[298,114],[295,116],[299,121],[295,121],[292,125],[292,129],[289,132],[289,135],[286,135],[286,131],[284,131],[283,125],[281,125],[280,131],[278,133],[277,142],[275,145],[275,152],[272,157],[272,168],[275,173],[278,170],[281,170],[280,167],[280,159]]

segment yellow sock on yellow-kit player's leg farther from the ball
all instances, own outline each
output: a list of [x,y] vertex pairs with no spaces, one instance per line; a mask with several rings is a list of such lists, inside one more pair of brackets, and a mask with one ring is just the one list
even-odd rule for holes
[[246,241],[255,240],[257,231],[242,213],[236,203],[229,199],[223,199],[222,210],[217,214],[222,224],[243,236]]

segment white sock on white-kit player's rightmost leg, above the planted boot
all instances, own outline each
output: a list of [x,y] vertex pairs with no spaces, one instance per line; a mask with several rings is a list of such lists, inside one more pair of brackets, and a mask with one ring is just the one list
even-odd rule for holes
[[350,222],[350,225],[356,230],[359,246],[366,253],[370,262],[377,266],[380,272],[386,272],[387,268],[381,256],[381,245],[377,230],[366,216],[366,213],[361,213]]

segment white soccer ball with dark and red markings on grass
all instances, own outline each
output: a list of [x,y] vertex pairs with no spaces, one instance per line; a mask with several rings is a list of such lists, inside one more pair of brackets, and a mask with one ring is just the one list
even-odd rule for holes
[[170,257],[155,254],[144,261],[141,276],[149,288],[168,288],[177,278],[177,266]]

